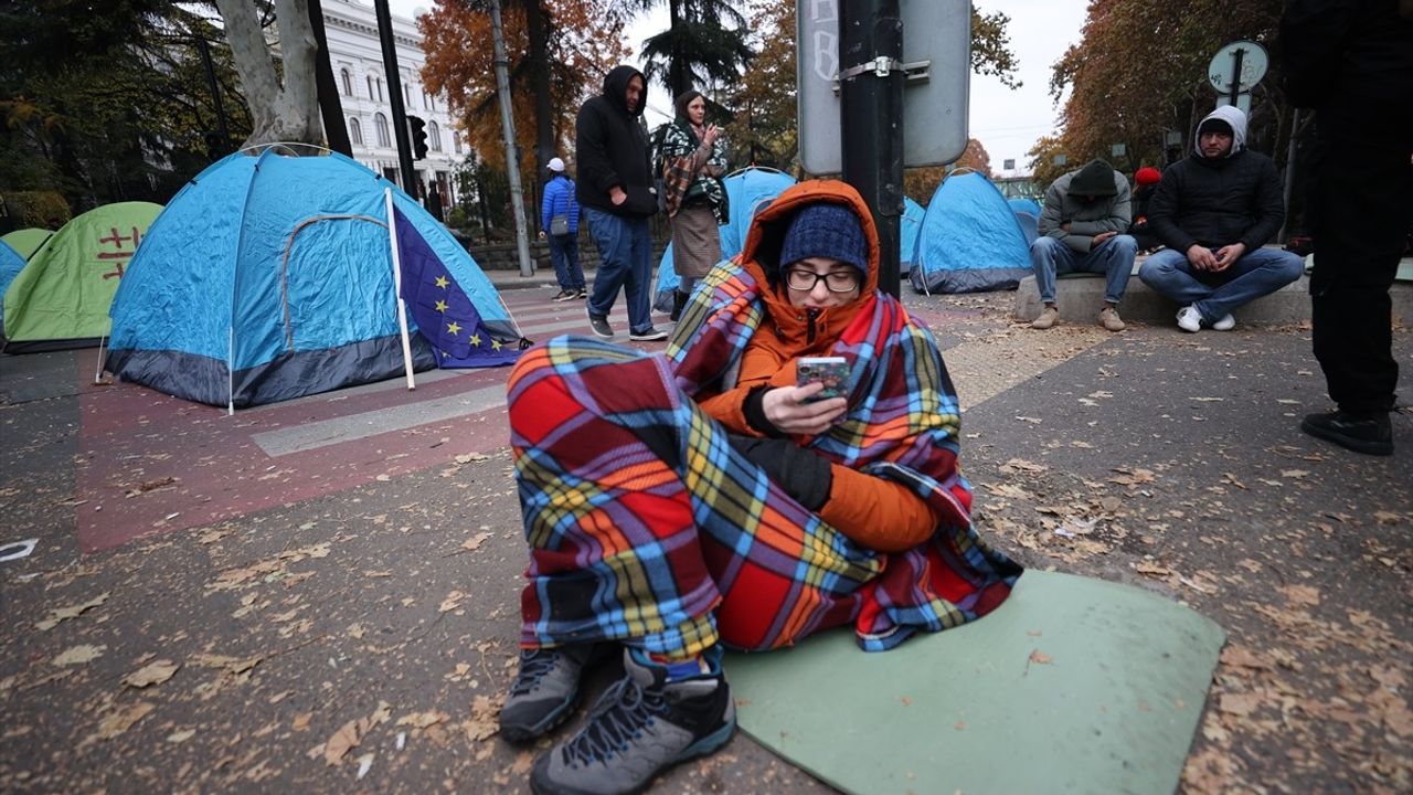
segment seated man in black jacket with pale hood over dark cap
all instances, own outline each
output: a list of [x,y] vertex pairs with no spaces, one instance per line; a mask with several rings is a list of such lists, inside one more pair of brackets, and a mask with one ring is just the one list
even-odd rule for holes
[[1276,164],[1246,149],[1246,115],[1224,105],[1197,126],[1193,154],[1163,171],[1149,226],[1167,246],[1139,279],[1181,304],[1177,325],[1228,331],[1232,311],[1300,279],[1304,263],[1263,249],[1286,218]]

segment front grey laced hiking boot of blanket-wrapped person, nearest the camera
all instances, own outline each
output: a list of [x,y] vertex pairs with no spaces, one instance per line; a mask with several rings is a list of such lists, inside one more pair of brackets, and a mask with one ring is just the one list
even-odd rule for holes
[[736,704],[716,675],[667,680],[667,669],[623,651],[625,676],[578,734],[536,760],[540,795],[637,792],[677,762],[715,751],[736,730]]

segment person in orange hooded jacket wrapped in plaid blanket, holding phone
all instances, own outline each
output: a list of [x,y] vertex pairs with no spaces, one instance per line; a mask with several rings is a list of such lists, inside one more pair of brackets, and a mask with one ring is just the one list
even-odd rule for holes
[[[933,335],[877,289],[859,194],[801,182],[692,294],[667,356],[582,337],[509,383],[530,584],[500,734],[533,741],[585,668],[626,675],[541,755],[536,792],[636,792],[735,729],[722,646],[852,624],[866,651],[992,611],[1020,567],[969,519],[959,406]],[[846,396],[797,386],[849,364]]]

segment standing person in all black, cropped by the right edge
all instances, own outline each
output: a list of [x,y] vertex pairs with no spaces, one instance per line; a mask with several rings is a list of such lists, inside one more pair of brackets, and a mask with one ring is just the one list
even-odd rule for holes
[[1338,410],[1300,429],[1393,454],[1389,287],[1413,222],[1413,1],[1293,0],[1280,20],[1286,89],[1316,109],[1307,225],[1314,354]]

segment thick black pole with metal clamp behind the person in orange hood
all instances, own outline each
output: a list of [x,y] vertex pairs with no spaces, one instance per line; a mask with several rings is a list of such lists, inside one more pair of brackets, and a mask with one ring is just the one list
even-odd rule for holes
[[[866,66],[855,74],[851,69]],[[873,212],[879,289],[899,294],[903,218],[903,20],[899,0],[845,0],[839,8],[844,181]]]

